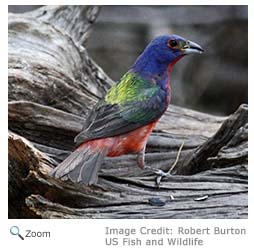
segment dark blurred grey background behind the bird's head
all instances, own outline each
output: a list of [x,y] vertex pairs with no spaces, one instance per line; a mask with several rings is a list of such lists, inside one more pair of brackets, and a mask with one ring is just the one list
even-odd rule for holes
[[[26,12],[39,6],[9,6]],[[174,33],[200,44],[172,72],[172,103],[228,115],[248,102],[248,7],[103,6],[87,49],[115,81],[154,37]]]

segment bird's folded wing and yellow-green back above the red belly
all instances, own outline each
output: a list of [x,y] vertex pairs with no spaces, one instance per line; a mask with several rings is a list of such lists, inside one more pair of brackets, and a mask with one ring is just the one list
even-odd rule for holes
[[154,83],[121,79],[90,113],[76,144],[124,134],[159,119],[166,109],[166,94]]

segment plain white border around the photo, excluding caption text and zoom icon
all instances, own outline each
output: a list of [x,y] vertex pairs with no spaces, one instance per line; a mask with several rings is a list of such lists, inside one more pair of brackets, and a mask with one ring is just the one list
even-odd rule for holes
[[[3,1],[2,1],[3,2]],[[244,237],[207,237],[207,243],[203,249],[237,249],[252,248],[251,236],[253,234],[253,225],[254,225],[254,194],[253,194],[253,163],[254,163],[254,154],[252,154],[253,146],[253,115],[252,112],[249,112],[249,219],[246,220],[8,220],[8,169],[7,169],[7,83],[8,83],[8,72],[7,72],[7,60],[8,60],[8,30],[7,30],[7,4],[24,4],[22,1],[5,1],[1,2],[1,33],[2,37],[0,39],[0,70],[1,70],[1,117],[3,121],[1,122],[0,129],[0,159],[1,159],[1,181],[0,181],[0,197],[1,197],[1,206],[0,206],[0,242],[2,244],[1,248],[8,249],[70,249],[70,248],[94,248],[94,249],[116,249],[116,247],[105,247],[104,244],[104,227],[113,226],[113,227],[156,227],[156,226],[168,226],[168,227],[177,227],[178,225],[182,226],[195,226],[195,227],[204,227],[209,226],[213,227],[219,225],[221,227],[246,227],[248,229],[247,236]],[[27,5],[41,4],[42,1],[26,1]],[[121,1],[121,5],[249,5],[249,106],[250,110],[253,110],[253,97],[251,96],[253,91],[253,24],[254,24],[254,11],[253,11],[253,1]],[[98,5],[119,5],[117,1],[48,1],[44,0],[43,4],[98,4]],[[232,41],[234,42],[234,41]],[[246,45],[247,46],[247,45]],[[5,121],[5,122],[4,122]],[[50,230],[52,237],[49,239],[31,239],[25,240],[24,242],[20,241],[15,236],[10,235],[9,228],[12,225],[19,225],[22,229],[32,229],[32,230]],[[119,247],[117,247],[119,249]],[[132,247],[133,248],[133,247]],[[157,249],[153,247],[136,247],[136,249]],[[158,249],[166,249],[169,247],[159,247]],[[194,247],[195,249],[197,247]],[[193,249],[194,249],[193,248]],[[120,248],[122,249],[122,248]],[[130,249],[130,248],[123,248]],[[182,249],[182,248],[176,248]],[[186,247],[184,248],[186,249]]]

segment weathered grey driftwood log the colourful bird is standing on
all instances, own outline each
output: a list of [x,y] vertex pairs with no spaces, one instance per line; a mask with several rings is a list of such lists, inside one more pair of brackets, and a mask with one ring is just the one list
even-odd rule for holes
[[184,147],[159,189],[134,155],[106,159],[91,187],[48,176],[112,84],[84,48],[98,12],[46,6],[9,15],[9,217],[246,218],[247,105],[230,117],[171,105],[146,163],[166,171]]

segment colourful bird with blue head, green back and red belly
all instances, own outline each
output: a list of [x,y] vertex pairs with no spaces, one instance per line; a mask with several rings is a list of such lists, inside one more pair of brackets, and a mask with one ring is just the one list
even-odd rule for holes
[[75,150],[50,175],[93,185],[105,157],[130,153],[145,169],[148,137],[170,103],[172,68],[185,55],[203,52],[200,45],[178,35],[154,38],[91,109],[74,138]]

